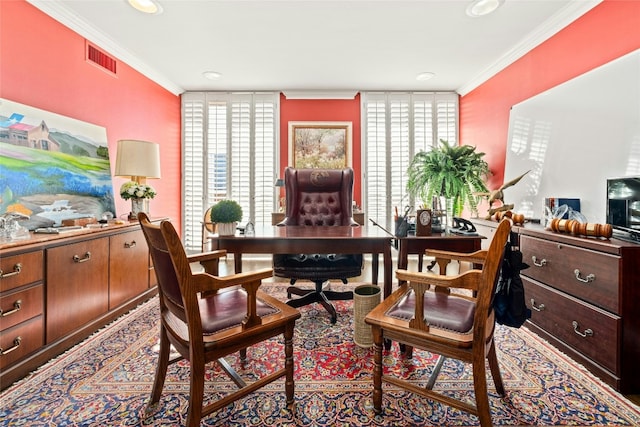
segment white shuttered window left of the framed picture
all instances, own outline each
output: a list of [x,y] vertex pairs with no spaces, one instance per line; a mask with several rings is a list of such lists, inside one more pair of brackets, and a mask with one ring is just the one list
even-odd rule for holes
[[183,240],[200,250],[205,210],[233,199],[242,223],[270,225],[276,207],[278,93],[182,95]]

